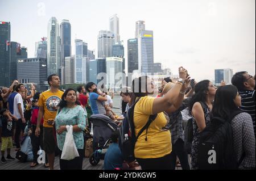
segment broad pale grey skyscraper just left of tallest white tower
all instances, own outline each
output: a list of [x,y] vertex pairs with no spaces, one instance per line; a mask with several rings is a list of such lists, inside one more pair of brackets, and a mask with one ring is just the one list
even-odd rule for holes
[[98,34],[98,58],[112,57],[114,34],[110,31],[101,30]]

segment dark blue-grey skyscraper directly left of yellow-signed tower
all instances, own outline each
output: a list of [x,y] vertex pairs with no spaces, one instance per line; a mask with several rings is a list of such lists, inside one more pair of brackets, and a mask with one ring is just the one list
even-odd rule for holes
[[128,73],[138,70],[138,39],[127,40]]

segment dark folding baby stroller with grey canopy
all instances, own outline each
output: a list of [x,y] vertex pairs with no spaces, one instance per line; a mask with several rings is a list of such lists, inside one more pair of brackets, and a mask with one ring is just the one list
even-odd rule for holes
[[89,121],[93,125],[93,153],[89,157],[89,162],[96,166],[101,159],[104,159],[110,142],[109,138],[118,127],[112,119],[105,115],[92,115]]

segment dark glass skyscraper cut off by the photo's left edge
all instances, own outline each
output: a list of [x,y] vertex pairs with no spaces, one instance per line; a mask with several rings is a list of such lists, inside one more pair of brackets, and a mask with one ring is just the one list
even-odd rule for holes
[[0,22],[0,86],[10,86],[11,23]]

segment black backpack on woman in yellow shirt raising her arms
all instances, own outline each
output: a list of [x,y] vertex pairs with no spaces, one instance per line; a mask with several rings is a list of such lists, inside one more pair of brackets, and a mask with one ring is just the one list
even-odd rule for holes
[[[150,126],[152,121],[155,120],[155,118],[157,116],[157,114],[150,115],[146,125],[144,125],[144,127],[139,131],[138,135],[135,136],[135,127],[134,127],[133,117],[134,117],[134,107],[138,101],[139,101],[139,99],[136,100],[136,102],[129,108],[129,110],[127,111],[127,113],[125,115],[125,119],[123,120],[123,124],[121,125],[121,128],[119,128],[119,132],[120,132],[119,148],[122,151],[123,159],[125,159],[125,161],[128,161],[128,162],[132,162],[135,160],[135,157],[134,157],[135,144],[136,144],[139,136],[141,136],[142,132],[145,129],[146,129],[146,134],[147,134],[148,127]],[[127,140],[125,140],[125,134],[128,134]],[[147,141],[147,136],[145,138],[145,141]]]

